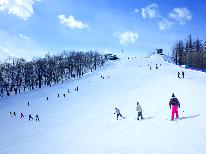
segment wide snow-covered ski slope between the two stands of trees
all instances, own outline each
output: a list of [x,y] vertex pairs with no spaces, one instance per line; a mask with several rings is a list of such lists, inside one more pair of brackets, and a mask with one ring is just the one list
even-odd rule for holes
[[[182,70],[185,79],[178,79]],[[182,120],[170,121],[173,92]],[[179,68],[159,55],[122,56],[82,79],[1,98],[0,154],[206,153],[205,96],[205,73]],[[145,120],[136,120],[137,101]],[[115,107],[126,119],[116,120]],[[37,113],[40,122],[28,120]]]

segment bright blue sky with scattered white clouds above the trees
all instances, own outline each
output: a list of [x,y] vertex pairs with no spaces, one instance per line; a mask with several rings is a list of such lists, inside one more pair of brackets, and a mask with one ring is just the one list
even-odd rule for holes
[[0,0],[0,58],[63,50],[145,54],[205,39],[203,0]]

